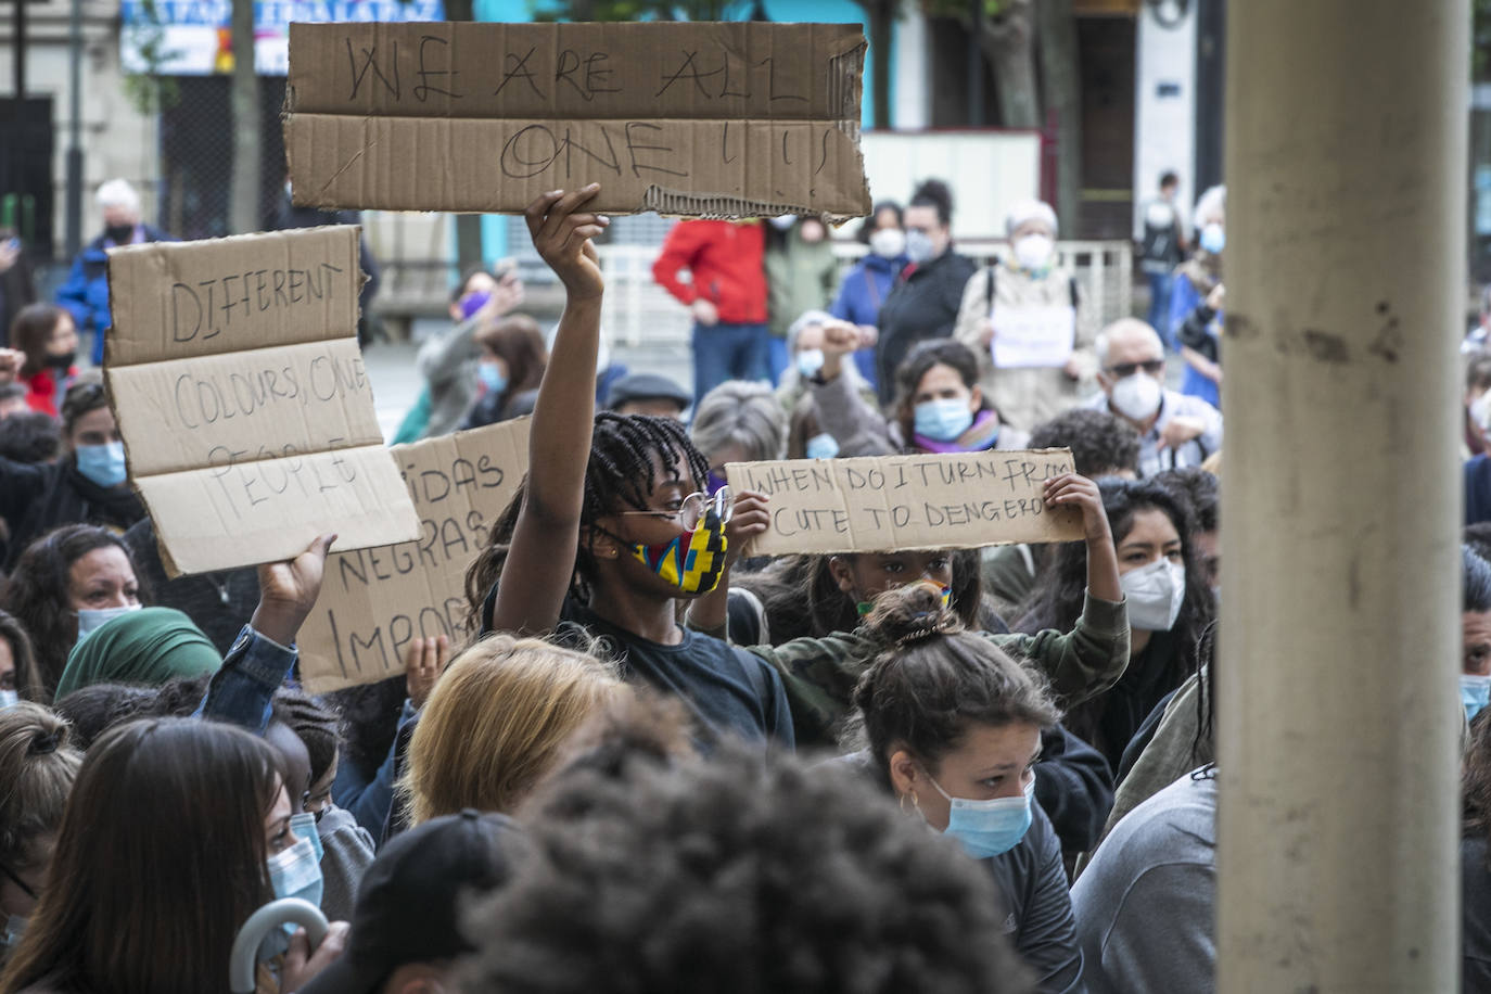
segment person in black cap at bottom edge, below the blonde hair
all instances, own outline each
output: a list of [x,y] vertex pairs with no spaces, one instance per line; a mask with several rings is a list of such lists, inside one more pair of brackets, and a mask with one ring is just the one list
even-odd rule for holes
[[453,964],[476,951],[461,911],[502,887],[526,849],[511,820],[470,809],[394,839],[362,878],[346,952],[300,994],[452,990]]

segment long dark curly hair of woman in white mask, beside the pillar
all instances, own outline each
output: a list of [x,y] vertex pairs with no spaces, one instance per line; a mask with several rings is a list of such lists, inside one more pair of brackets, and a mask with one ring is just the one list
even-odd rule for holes
[[[1179,687],[1191,675],[1196,665],[1196,647],[1202,630],[1211,624],[1217,612],[1217,602],[1206,587],[1203,569],[1196,554],[1193,541],[1194,528],[1188,501],[1170,487],[1153,480],[1118,480],[1108,478],[1099,481],[1103,496],[1103,508],[1108,511],[1108,526],[1112,529],[1114,545],[1121,545],[1123,539],[1133,528],[1133,519],[1141,511],[1160,511],[1175,532],[1181,536],[1181,557],[1185,563],[1185,596],[1181,601],[1181,614],[1170,629],[1176,639],[1175,653],[1167,662],[1169,672],[1161,674],[1156,687],[1163,686],[1164,691]],[[1045,563],[1036,586],[1026,599],[1023,617],[1015,623],[1017,632],[1039,632],[1056,629],[1071,632],[1077,618],[1082,615],[1082,601],[1087,596],[1087,547],[1082,542],[1065,542],[1056,554]],[[1126,674],[1138,677],[1138,674]],[[1102,742],[1102,721],[1108,705],[1108,693],[1097,694],[1068,714],[1066,726],[1099,751],[1118,754],[1127,742]]]

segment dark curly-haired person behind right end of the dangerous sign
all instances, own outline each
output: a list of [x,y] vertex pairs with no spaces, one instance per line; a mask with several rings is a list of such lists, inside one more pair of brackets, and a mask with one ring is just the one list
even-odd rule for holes
[[[1139,474],[1139,434],[1106,411],[1081,407],[1063,411],[1036,425],[1026,446],[1035,450],[1071,449],[1074,468],[1088,480],[1133,480]],[[984,589],[997,610],[1015,617],[1053,548],[1051,544],[1030,547],[1020,542],[984,550]]]

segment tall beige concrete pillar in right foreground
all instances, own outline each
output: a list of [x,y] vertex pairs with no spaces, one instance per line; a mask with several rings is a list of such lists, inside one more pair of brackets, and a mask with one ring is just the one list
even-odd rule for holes
[[1458,991],[1469,3],[1227,6],[1218,990]]

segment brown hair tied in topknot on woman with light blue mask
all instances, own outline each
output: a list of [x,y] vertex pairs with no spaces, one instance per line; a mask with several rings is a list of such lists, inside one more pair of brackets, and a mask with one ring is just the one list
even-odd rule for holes
[[856,736],[862,729],[884,785],[892,744],[904,744],[935,770],[971,726],[1024,721],[1050,729],[1062,717],[1045,678],[965,632],[929,583],[875,598],[868,626],[889,648],[854,687],[850,727]]

